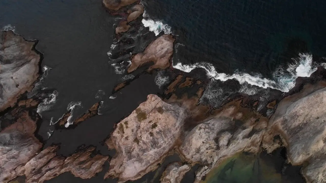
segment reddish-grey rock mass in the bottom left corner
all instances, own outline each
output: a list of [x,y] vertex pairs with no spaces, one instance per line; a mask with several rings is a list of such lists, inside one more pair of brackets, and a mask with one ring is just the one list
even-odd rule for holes
[[42,144],[35,138],[36,122],[23,112],[18,120],[0,132],[0,182],[24,174],[24,165]]

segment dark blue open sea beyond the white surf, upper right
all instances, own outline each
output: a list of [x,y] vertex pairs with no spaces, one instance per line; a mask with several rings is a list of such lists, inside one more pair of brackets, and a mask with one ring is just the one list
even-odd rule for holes
[[326,2],[321,0],[144,0],[152,18],[179,35],[175,61],[213,63],[271,77],[300,52],[326,55]]

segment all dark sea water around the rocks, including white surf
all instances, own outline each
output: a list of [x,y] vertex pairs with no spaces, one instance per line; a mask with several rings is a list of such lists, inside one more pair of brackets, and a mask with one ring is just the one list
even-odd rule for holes
[[[326,56],[323,1],[141,3],[146,10],[143,20],[116,38],[114,29],[121,17],[109,14],[101,0],[0,1],[0,29],[39,40],[36,48],[44,54],[44,74],[36,88],[51,91],[44,92],[43,103],[37,108],[43,118],[37,133],[46,141],[45,147],[60,144],[59,154],[67,156],[81,145],[94,145],[98,152],[114,155],[102,142],[114,123],[145,101],[148,94],[161,93],[162,86],[172,79],[163,71],[141,77],[125,72],[130,56],[163,33],[175,35],[175,69],[190,73],[202,69],[214,80],[234,79],[241,84],[234,91],[250,95],[259,88],[266,93],[269,89],[289,91],[297,77],[308,77],[326,62],[322,59]],[[112,94],[115,84],[135,77],[126,88]],[[214,92],[207,90],[205,96],[218,105],[221,101],[215,99],[229,91],[212,83],[209,86]],[[28,95],[33,97],[35,92]],[[100,115],[74,129],[53,128],[68,110],[73,112],[71,122],[100,101]],[[155,182],[148,178],[152,174],[135,182]],[[93,179],[81,180],[64,174],[48,182],[116,182],[103,180],[103,175],[101,172]],[[184,181],[189,182],[188,178],[193,177]]]

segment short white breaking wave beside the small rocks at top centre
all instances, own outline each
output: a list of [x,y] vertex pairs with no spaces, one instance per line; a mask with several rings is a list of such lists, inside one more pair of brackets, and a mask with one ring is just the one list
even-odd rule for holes
[[[145,19],[146,17],[146,19]],[[155,35],[159,35],[160,32],[164,32],[164,34],[171,34],[171,27],[168,24],[162,23],[160,20],[152,20],[146,14],[146,11],[143,13],[143,19],[141,20],[144,27],[148,27],[151,32],[154,32]]]

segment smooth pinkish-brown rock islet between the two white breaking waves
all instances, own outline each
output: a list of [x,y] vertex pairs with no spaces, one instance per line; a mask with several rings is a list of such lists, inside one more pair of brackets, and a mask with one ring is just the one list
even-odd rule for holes
[[132,72],[140,65],[147,62],[154,62],[148,70],[155,68],[166,69],[170,65],[170,58],[173,54],[172,35],[162,35],[148,45],[144,52],[138,53],[131,60],[128,72]]

